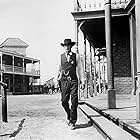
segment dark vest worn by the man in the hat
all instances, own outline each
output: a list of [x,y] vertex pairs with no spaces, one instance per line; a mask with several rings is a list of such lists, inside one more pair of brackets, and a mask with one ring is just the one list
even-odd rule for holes
[[62,74],[63,77],[68,76],[71,77],[72,80],[77,80],[76,76],[76,54],[72,52],[72,55],[70,56],[69,62],[67,61],[65,53],[61,54],[61,67],[64,74]]

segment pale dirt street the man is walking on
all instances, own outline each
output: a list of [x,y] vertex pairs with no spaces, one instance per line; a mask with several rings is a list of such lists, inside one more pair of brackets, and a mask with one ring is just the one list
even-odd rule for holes
[[0,140],[104,139],[79,109],[75,130],[65,119],[60,94],[8,96],[8,123],[0,121]]

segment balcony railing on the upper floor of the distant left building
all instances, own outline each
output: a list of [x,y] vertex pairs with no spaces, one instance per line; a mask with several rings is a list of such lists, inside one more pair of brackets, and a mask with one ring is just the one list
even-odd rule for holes
[[29,75],[40,75],[40,70],[36,69],[25,69],[23,67],[18,66],[11,66],[11,65],[2,65],[1,70],[3,72],[14,72],[14,73],[22,73],[22,74],[29,74]]

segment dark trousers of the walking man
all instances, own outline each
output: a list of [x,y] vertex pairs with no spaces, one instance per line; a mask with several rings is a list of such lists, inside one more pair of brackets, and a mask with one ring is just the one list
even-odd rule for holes
[[[71,107],[69,100],[71,99]],[[66,112],[67,119],[71,123],[77,121],[77,107],[78,107],[78,81],[77,80],[62,80],[61,81],[61,101],[62,106]]]

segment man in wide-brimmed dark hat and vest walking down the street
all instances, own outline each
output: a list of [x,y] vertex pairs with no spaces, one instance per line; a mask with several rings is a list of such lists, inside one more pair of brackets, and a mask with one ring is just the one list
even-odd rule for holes
[[[80,80],[80,88],[83,90],[85,88],[85,75],[79,55],[71,51],[75,42],[72,42],[71,39],[65,39],[61,45],[64,47],[65,52],[61,54],[57,80],[61,88],[61,101],[67,115],[67,123],[73,130],[77,121],[78,80]],[[69,107],[70,99],[71,107]]]

